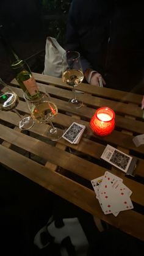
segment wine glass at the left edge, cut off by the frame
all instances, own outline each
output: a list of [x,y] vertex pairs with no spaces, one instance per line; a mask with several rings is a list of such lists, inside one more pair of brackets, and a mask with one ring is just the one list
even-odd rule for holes
[[21,130],[29,130],[34,125],[34,120],[31,116],[21,117],[20,113],[16,110],[16,106],[18,104],[18,95],[13,92],[11,87],[5,84],[4,81],[0,78],[0,84],[2,85],[2,90],[0,94],[0,109],[4,111],[12,110],[19,117],[20,121],[18,122],[18,126]]

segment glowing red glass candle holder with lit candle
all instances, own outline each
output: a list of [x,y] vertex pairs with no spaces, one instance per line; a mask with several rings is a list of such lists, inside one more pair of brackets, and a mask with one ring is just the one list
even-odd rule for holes
[[90,120],[90,128],[99,136],[107,136],[115,128],[115,112],[107,107],[99,108]]

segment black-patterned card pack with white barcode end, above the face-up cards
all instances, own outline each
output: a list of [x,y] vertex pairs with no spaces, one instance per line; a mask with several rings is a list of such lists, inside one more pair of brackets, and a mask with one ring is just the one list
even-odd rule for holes
[[107,145],[101,158],[107,161],[108,163],[112,164],[113,166],[117,167],[123,172],[127,172],[129,165],[132,161],[132,157],[117,150],[110,145]]

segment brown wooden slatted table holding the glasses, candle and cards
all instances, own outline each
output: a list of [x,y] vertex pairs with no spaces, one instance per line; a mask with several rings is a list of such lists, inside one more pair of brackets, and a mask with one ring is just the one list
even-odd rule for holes
[[[78,145],[60,139],[54,143],[48,140],[48,125],[35,123],[29,132],[18,128],[18,116],[12,112],[0,112],[0,161],[10,169],[19,172],[49,191],[63,197],[123,232],[144,241],[144,145],[135,147],[132,138],[144,133],[142,95],[121,92],[81,84],[77,98],[84,101],[80,109],[71,109],[68,100],[72,97],[70,86],[60,78],[34,73],[38,86],[46,88],[57,104],[59,114],[53,122],[65,128],[73,122],[86,126]],[[10,86],[18,94],[20,102],[16,107],[21,114],[29,113],[23,100],[23,92],[15,79]],[[98,137],[89,128],[89,122],[96,109],[102,106],[112,108],[116,114],[116,126],[112,134]],[[111,167],[100,159],[107,144],[117,147],[139,159],[135,177]],[[109,170],[123,178],[131,189],[133,210],[122,211],[115,218],[105,215],[96,200],[90,180]]]

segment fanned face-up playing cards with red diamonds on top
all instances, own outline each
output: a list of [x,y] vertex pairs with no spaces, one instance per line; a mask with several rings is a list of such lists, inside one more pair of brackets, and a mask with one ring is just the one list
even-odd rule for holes
[[104,214],[117,216],[120,211],[134,208],[130,198],[132,191],[116,175],[105,172],[104,176],[95,178],[91,183]]

